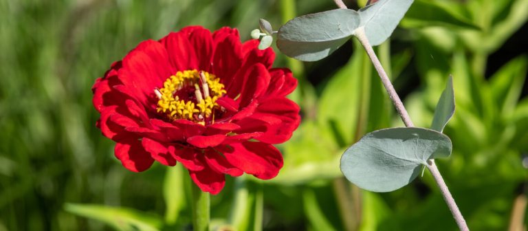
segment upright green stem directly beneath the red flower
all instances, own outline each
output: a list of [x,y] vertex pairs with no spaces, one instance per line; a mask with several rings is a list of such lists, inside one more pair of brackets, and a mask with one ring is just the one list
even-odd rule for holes
[[192,188],[192,230],[209,231],[210,195],[202,192],[198,186],[190,181]]

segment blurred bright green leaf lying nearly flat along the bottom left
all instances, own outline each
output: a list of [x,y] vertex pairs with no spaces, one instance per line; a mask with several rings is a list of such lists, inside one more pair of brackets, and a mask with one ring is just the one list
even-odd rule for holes
[[162,227],[162,220],[131,208],[113,208],[101,205],[67,203],[65,210],[81,217],[107,223],[115,230],[154,231]]

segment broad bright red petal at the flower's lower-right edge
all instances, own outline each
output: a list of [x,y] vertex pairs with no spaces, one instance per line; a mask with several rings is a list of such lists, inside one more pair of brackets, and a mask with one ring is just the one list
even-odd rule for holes
[[230,164],[259,179],[272,179],[283,167],[281,152],[271,144],[243,142],[218,149]]

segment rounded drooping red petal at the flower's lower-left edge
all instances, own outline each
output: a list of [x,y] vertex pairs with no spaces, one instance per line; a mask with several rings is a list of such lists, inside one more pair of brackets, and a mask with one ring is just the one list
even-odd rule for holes
[[151,167],[154,159],[146,152],[137,139],[122,140],[115,144],[115,157],[121,160],[123,166],[133,172],[142,172]]

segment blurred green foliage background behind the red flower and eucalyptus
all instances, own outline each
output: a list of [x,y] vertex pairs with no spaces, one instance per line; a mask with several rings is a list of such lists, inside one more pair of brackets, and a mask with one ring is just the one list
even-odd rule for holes
[[[245,41],[259,18],[278,28],[333,8],[320,0],[0,1],[0,230],[189,230],[183,169],[123,168],[95,127],[94,80],[140,41],[186,25],[236,27]],[[472,230],[526,230],[527,19],[528,0],[416,0],[377,47],[417,126],[430,125],[453,74],[456,112],[444,133],[454,149],[437,164]],[[342,177],[345,148],[402,126],[358,43],[316,63],[277,52],[275,65],[300,80],[292,99],[303,123],[279,146],[278,177],[228,179],[212,197],[214,227],[456,229],[427,172],[389,193]]]

